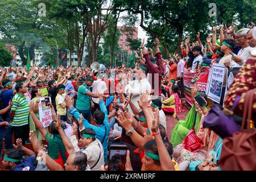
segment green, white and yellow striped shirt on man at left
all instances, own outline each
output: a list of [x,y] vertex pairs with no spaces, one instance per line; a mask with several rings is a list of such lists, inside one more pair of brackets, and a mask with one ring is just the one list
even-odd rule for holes
[[28,114],[30,106],[25,96],[16,93],[13,99],[11,111],[14,111],[13,126],[23,126],[28,124]]

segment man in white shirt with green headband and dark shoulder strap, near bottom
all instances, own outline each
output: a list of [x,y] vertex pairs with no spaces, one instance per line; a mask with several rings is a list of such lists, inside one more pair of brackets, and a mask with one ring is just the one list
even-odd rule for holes
[[71,141],[75,151],[81,151],[87,156],[87,164],[91,171],[100,171],[101,166],[104,165],[104,149],[103,146],[95,136],[93,129],[87,128],[81,131],[80,143],[84,149],[80,150],[76,136],[73,135],[69,140]]

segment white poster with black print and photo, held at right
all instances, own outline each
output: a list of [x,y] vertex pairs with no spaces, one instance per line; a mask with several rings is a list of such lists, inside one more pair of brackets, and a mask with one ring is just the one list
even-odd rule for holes
[[220,104],[222,85],[225,77],[225,65],[213,63],[210,69],[208,84],[207,84],[207,97]]

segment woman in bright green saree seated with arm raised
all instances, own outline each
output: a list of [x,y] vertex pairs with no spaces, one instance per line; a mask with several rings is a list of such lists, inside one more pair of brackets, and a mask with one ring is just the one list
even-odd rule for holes
[[195,131],[198,130],[201,115],[207,115],[208,110],[206,107],[200,107],[197,102],[194,100],[194,97],[200,94],[205,101],[207,101],[207,95],[204,92],[197,92],[197,85],[196,83],[192,84],[191,87],[191,97],[193,100],[193,105],[191,109],[188,112],[187,117],[185,118],[185,121],[180,120],[177,122],[177,124],[174,127],[174,130],[172,130],[171,140],[173,147],[176,147],[178,144],[182,143],[182,140],[185,138],[185,136],[188,134],[188,131],[192,129],[192,127],[195,128]]

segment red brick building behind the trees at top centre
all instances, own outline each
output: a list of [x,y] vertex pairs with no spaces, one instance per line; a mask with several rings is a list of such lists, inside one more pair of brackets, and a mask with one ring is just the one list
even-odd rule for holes
[[117,28],[121,31],[121,37],[118,40],[119,47],[125,51],[128,51],[129,55],[131,55],[131,50],[127,39],[138,39],[138,27],[117,26]]

